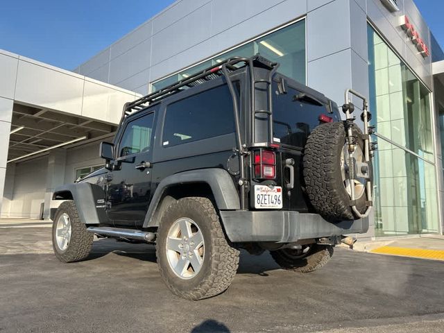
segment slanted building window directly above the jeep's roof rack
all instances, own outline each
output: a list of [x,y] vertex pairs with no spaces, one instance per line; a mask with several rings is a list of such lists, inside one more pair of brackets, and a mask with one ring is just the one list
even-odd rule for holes
[[203,71],[212,65],[217,65],[219,62],[228,58],[234,56],[249,58],[257,53],[264,58],[279,62],[280,73],[305,84],[305,19],[286,26],[278,31],[274,31],[273,33],[269,33],[263,37],[259,37],[256,40],[237,47],[236,49],[221,53],[219,56],[210,58],[209,60],[185,69],[178,74],[173,74],[167,78],[159,80],[151,85],[151,90],[155,92],[156,90],[167,87],[178,80],[196,74],[198,71]]

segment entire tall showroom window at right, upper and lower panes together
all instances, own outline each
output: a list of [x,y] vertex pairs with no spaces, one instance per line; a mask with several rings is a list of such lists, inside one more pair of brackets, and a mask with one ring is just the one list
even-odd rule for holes
[[377,236],[438,232],[430,92],[368,26]]

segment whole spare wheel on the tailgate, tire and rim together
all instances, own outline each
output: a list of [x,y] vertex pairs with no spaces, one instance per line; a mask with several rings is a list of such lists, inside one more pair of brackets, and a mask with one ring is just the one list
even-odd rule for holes
[[[358,126],[353,124],[357,162],[364,162],[364,139]],[[367,209],[366,178],[348,178],[348,146],[345,126],[342,122],[323,123],[316,127],[307,139],[304,158],[305,189],[314,210],[330,221],[357,219],[352,210],[350,184],[355,187],[355,205],[359,213]],[[370,181],[373,170],[369,165]]]

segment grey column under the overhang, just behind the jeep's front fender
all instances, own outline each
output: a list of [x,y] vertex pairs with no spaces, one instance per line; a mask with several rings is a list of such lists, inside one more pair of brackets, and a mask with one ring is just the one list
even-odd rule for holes
[[46,190],[44,194],[43,218],[49,219],[51,198],[53,191],[65,181],[66,149],[54,149],[48,156],[48,170],[46,171]]

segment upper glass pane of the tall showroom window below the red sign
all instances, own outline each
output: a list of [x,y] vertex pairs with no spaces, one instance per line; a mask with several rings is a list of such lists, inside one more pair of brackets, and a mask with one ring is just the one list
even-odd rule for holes
[[368,41],[377,132],[433,162],[429,91],[371,27]]

